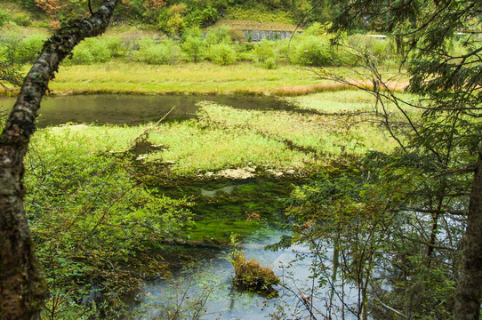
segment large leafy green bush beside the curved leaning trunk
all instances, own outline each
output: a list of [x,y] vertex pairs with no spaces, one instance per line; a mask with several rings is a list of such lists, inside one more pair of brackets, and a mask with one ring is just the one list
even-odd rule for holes
[[[52,128],[37,132],[28,152],[25,206],[49,290],[44,313],[62,319],[89,310],[118,318],[110,312],[121,297],[165,267],[153,254],[159,242],[190,223],[185,199],[140,187],[129,161],[82,148],[90,139],[77,126]],[[92,306],[95,288],[108,295]]]

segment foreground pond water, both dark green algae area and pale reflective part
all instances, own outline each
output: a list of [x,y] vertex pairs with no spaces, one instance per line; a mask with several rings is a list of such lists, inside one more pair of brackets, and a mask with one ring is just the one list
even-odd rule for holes
[[[283,319],[307,316],[307,308],[296,297],[300,289],[309,295],[315,287],[316,297],[312,301],[319,308],[329,300],[329,292],[319,288],[310,278],[313,265],[319,268],[309,248],[292,245],[289,248],[267,251],[265,246],[276,244],[284,231],[277,228],[282,222],[282,198],[289,195],[294,184],[302,183],[295,179],[256,178],[247,180],[193,181],[185,186],[172,188],[164,186],[157,189],[168,196],[191,196],[197,203],[193,211],[197,215],[197,225],[189,234],[191,239],[216,239],[216,248],[173,247],[171,254],[165,256],[173,263],[173,276],[168,279],[148,281],[141,290],[141,299],[132,301],[133,309],[139,312],[140,319],[166,319],[166,312],[173,314],[179,307],[181,319],[193,316],[199,301],[199,319],[250,319],[269,318],[270,314],[283,308],[287,313]],[[256,212],[257,219],[253,219]],[[278,298],[267,298],[255,292],[239,292],[232,285],[234,268],[229,261],[232,247],[226,244],[229,236],[236,233],[246,260],[256,260],[263,267],[272,268],[285,286],[277,285]],[[332,258],[332,249],[326,245],[325,255]],[[302,258],[302,259],[301,259]],[[178,261],[176,263],[176,261]],[[327,262],[325,262],[327,263]],[[296,294],[294,294],[296,293]],[[356,292],[346,286],[345,298],[356,300]],[[189,297],[189,298],[186,298]],[[190,310],[190,311],[189,311]],[[304,317],[301,317],[304,318]],[[347,315],[346,319],[351,317]]]

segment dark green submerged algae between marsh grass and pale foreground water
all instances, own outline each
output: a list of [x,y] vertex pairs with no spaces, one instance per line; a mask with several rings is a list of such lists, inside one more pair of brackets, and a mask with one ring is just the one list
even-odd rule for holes
[[[190,196],[196,205],[195,227],[188,238],[213,244],[228,244],[229,236],[251,236],[269,230],[283,216],[280,200],[289,196],[297,179],[254,178],[248,180],[189,180],[182,185],[158,187],[166,196]],[[171,188],[170,188],[171,187]]]

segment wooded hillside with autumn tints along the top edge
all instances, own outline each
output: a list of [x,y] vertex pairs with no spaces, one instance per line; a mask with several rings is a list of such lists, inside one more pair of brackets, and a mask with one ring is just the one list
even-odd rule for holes
[[[92,0],[92,10],[100,0]],[[256,20],[300,24],[330,22],[341,12],[343,1],[318,0],[123,0],[114,23],[178,36],[185,28],[206,28],[220,20]],[[0,27],[12,21],[23,27],[59,28],[62,21],[89,12],[88,0],[0,0]],[[358,26],[380,30],[380,23]]]

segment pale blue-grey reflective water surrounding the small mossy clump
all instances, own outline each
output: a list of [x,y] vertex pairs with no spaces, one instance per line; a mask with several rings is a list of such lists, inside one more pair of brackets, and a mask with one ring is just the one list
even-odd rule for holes
[[[241,249],[245,252],[246,259],[258,261],[262,266],[272,268],[277,276],[282,277],[289,284],[295,276],[296,285],[305,288],[309,281],[309,260],[297,261],[296,253],[308,254],[308,250],[301,246],[293,246],[277,252],[265,251],[266,244],[276,243],[281,236],[274,230],[260,230],[243,240]],[[167,280],[156,280],[147,284],[143,289],[141,306],[143,316],[141,319],[164,319],[166,308],[175,308],[180,304],[181,297],[187,296],[186,302],[194,302],[207,298],[202,308],[201,319],[266,319],[269,314],[276,311],[277,305],[296,306],[299,302],[290,292],[277,286],[279,298],[266,298],[254,292],[238,292],[232,285],[234,270],[227,253],[222,250],[201,249],[198,252],[204,255],[195,268],[186,268],[187,271],[179,272]],[[291,275],[289,275],[291,274]],[[183,308],[189,303],[183,303]],[[192,318],[192,313],[182,314],[181,318]]]

